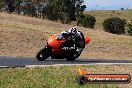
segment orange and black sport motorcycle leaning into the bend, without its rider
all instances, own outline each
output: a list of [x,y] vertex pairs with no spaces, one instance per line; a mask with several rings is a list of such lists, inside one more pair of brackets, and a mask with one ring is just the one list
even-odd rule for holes
[[[84,41],[86,45],[90,42],[90,38],[85,37]],[[51,57],[51,59],[66,58],[67,61],[73,61],[80,55],[76,56],[76,50],[78,47],[70,46],[73,46],[72,43],[67,44],[67,40],[64,38],[63,35],[61,34],[51,35],[47,41],[47,45],[37,53],[36,58],[39,61],[44,61],[49,57]]]

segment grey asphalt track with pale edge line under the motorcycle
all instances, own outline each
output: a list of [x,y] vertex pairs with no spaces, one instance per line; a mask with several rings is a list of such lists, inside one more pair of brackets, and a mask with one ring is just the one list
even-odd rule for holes
[[9,66],[47,66],[47,65],[85,65],[85,64],[132,64],[132,60],[105,60],[105,59],[82,59],[75,61],[66,61],[65,59],[50,59],[38,61],[34,57],[7,57],[0,56],[0,67]]

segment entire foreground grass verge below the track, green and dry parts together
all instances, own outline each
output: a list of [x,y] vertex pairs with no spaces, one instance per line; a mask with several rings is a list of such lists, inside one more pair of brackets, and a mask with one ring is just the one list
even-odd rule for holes
[[[131,88],[130,84],[76,83],[79,66],[0,69],[1,88]],[[88,74],[130,74],[132,65],[85,65]]]

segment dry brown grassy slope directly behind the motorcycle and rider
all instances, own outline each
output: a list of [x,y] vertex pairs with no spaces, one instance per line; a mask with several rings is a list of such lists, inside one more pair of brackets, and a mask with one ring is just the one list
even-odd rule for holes
[[[97,19],[101,19],[100,16],[102,15],[99,15]],[[85,36],[91,38],[90,44],[86,46],[81,57],[131,59],[132,37],[98,30],[98,26],[101,28],[99,23],[95,28],[97,30],[78,27]],[[72,26],[38,18],[0,13],[0,55],[35,56],[38,50],[46,44],[49,35],[68,30]]]

